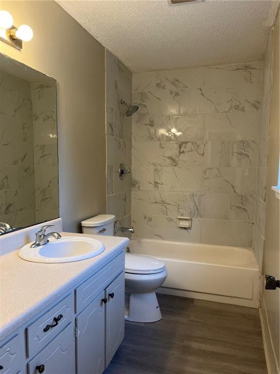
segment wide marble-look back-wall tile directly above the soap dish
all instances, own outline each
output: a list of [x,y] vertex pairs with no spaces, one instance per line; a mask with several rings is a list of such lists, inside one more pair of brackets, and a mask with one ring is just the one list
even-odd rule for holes
[[195,218],[227,220],[230,195],[214,193],[189,193],[178,197],[178,215]]

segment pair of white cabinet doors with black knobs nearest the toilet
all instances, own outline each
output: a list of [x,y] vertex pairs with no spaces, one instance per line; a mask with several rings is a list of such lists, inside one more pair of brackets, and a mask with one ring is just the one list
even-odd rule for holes
[[78,374],[101,374],[109,365],[124,337],[123,313],[122,272],[76,318]]

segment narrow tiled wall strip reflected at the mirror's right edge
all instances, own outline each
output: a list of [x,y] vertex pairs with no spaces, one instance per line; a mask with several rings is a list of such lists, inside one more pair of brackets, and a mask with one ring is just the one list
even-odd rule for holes
[[56,83],[31,83],[34,129],[36,222],[58,212]]

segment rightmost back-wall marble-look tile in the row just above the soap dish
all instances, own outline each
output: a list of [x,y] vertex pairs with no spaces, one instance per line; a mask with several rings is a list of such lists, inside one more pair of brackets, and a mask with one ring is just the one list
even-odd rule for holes
[[230,195],[229,219],[254,222],[255,197],[250,195]]

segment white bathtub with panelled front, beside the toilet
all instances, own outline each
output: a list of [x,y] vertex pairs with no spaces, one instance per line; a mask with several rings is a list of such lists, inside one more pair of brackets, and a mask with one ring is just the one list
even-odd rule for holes
[[165,262],[159,293],[259,307],[260,271],[251,248],[132,239],[132,253]]

